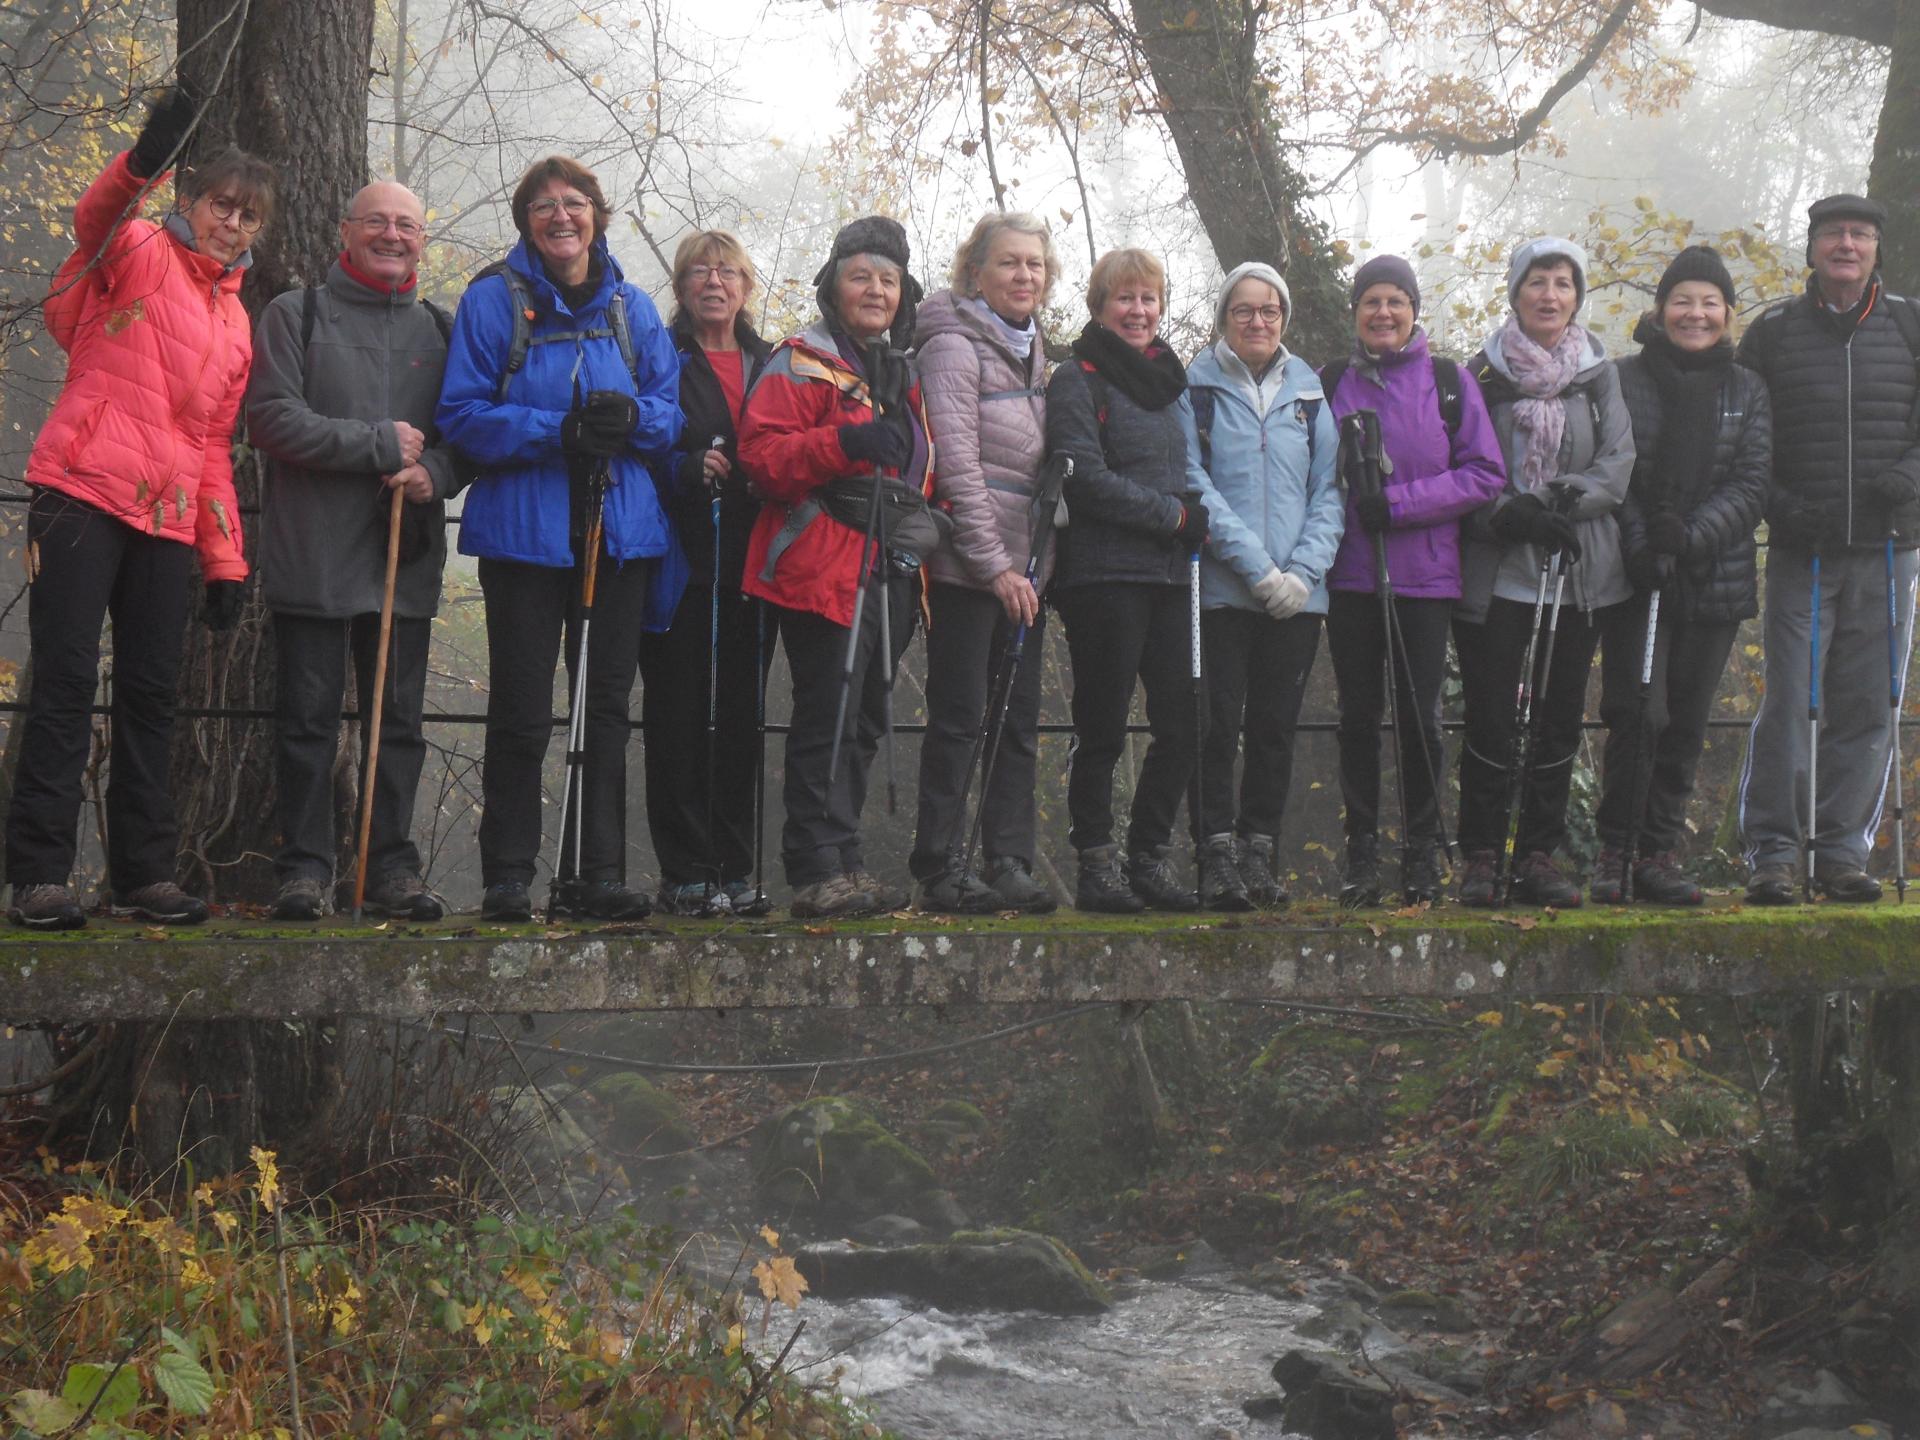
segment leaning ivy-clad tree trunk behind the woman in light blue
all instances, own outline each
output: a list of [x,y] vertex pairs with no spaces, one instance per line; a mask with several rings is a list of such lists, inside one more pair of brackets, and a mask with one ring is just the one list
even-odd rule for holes
[[1187,190],[1221,269],[1261,259],[1286,276],[1286,344],[1308,355],[1348,348],[1346,282],[1306,179],[1281,154],[1261,90],[1256,25],[1233,0],[1133,0]]

